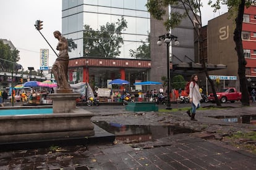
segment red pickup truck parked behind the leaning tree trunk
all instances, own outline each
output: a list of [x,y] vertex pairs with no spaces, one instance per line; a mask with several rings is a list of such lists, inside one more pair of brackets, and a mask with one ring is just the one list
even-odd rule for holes
[[[217,95],[218,99],[220,99],[221,103],[226,103],[227,101],[234,103],[236,100],[242,99],[242,93],[237,92],[236,88],[234,88],[234,87],[228,87],[225,89],[221,89],[220,92],[216,92],[216,95]],[[215,102],[213,93],[208,95],[208,100],[210,102]]]

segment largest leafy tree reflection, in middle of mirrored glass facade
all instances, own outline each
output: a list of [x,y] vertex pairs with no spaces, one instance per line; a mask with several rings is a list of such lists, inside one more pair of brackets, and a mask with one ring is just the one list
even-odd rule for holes
[[90,57],[116,58],[121,54],[119,48],[124,44],[121,32],[127,28],[127,22],[122,17],[116,23],[107,22],[100,30],[93,30],[90,25],[84,26],[83,49],[90,51]]

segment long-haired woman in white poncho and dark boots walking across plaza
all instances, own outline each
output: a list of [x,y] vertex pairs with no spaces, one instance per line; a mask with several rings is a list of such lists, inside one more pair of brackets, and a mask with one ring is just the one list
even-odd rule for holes
[[187,111],[192,121],[197,121],[197,119],[195,119],[195,110],[200,108],[200,100],[202,99],[197,81],[198,76],[196,74],[192,75],[189,84],[189,102],[192,103],[192,107],[190,109],[191,112],[190,110]]

